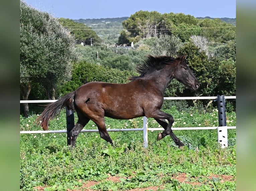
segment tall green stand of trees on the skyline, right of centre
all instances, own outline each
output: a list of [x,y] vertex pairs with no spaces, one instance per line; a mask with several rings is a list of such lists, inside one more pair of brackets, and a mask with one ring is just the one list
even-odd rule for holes
[[183,13],[160,14],[156,11],[138,11],[122,24],[129,32],[126,33],[126,39],[173,34],[185,42],[191,35],[201,35],[211,41],[226,43],[234,39],[236,34],[234,25],[220,19],[198,19]]

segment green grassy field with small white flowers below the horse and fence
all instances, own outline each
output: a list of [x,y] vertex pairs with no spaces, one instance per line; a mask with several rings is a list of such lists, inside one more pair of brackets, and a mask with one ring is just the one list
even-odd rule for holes
[[[218,126],[218,112],[177,111],[175,127]],[[37,115],[20,116],[20,130],[40,130]],[[76,121],[76,115],[75,115]],[[106,118],[107,128],[142,128],[142,118]],[[227,113],[236,126],[236,113]],[[148,127],[158,127],[148,119]],[[96,129],[90,121],[86,129]],[[49,130],[66,129],[65,110],[49,123]],[[66,133],[20,135],[21,190],[236,190],[236,130],[228,130],[229,147],[218,144],[217,130],[175,130],[187,146],[177,148],[170,136],[156,141],[149,131],[110,132],[114,146],[99,133],[80,133],[76,148],[67,146]],[[93,183],[93,184],[92,184]]]

